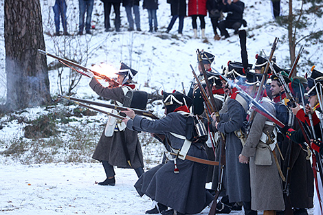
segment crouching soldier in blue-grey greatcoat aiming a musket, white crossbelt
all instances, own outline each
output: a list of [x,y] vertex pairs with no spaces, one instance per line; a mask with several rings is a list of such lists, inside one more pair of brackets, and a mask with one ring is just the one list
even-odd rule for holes
[[[133,111],[122,111],[131,120],[126,122],[133,131],[146,131],[165,135],[166,147],[171,151],[181,150],[185,144],[186,120],[190,111],[188,106],[192,100],[182,93],[163,93],[166,117],[160,120],[148,120]],[[183,147],[184,148],[184,147]],[[207,159],[203,142],[191,142],[187,155]],[[153,201],[157,201],[161,214],[197,214],[201,212],[213,199],[205,190],[208,166],[203,163],[180,159],[170,155],[169,161],[148,170],[135,183],[135,188],[140,196],[146,194]],[[166,210],[170,207],[170,210]],[[147,214],[158,214],[158,208],[149,210]],[[176,213],[175,213],[176,214]]]

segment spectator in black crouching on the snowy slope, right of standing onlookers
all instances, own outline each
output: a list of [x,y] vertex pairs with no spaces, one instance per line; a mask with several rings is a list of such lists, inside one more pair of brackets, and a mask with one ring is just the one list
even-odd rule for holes
[[225,20],[219,23],[219,30],[221,36],[225,38],[230,37],[226,28],[234,30],[234,34],[238,34],[238,30],[243,24],[247,26],[247,22],[243,19],[243,10],[245,9],[245,3],[239,0],[223,0],[223,12],[227,12]]

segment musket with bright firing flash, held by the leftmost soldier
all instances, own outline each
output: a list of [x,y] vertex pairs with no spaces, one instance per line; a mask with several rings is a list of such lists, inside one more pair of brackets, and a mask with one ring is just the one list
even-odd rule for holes
[[[50,56],[50,57],[52,57],[52,58],[55,58],[55,59],[57,59],[60,63],[63,63],[63,65],[66,65],[67,67],[71,67],[71,66],[73,66],[73,67],[77,67],[78,69],[82,69],[83,71],[85,71],[85,72],[89,72],[89,71],[91,71],[95,76],[98,76],[98,77],[100,77],[100,78],[102,78],[102,79],[104,79],[104,80],[107,80],[107,81],[109,81],[109,82],[113,82],[113,86],[115,86],[115,87],[118,87],[119,86],[119,83],[118,82],[116,82],[115,80],[113,80],[113,79],[111,79],[111,78],[109,78],[108,76],[104,76],[104,75],[102,75],[102,74],[100,74],[100,73],[98,73],[98,72],[96,72],[96,71],[93,71],[93,70],[91,70],[91,69],[88,69],[87,67],[83,67],[82,65],[79,65],[79,64],[77,64],[77,63],[74,63],[73,61],[71,61],[71,60],[67,60],[67,59],[65,59],[65,58],[60,58],[60,57],[58,57],[58,56],[56,56],[56,55],[54,55],[54,54],[49,54],[48,52],[45,52],[44,50],[42,50],[42,49],[38,49],[38,52],[39,53],[41,53],[41,54],[44,54],[44,55],[47,55],[47,56]],[[70,66],[71,65],[71,66]],[[74,68],[72,68],[72,69],[74,69]],[[79,71],[78,69],[74,69],[74,70],[76,70],[78,73],[80,73],[80,74],[82,74],[83,76],[87,76],[87,77],[89,77],[90,78],[90,76],[89,75],[87,75],[87,73],[84,73],[84,72],[82,72],[82,71]]]

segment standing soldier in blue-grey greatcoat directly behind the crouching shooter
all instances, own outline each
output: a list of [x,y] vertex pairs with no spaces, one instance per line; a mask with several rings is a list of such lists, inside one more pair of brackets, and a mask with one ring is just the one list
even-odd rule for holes
[[[230,64],[231,73],[243,74],[242,69],[242,65],[238,63]],[[243,84],[243,81],[240,84]],[[219,123],[216,122],[214,113],[212,113],[214,126],[226,136],[224,190],[227,196],[223,199],[228,199],[228,203],[224,203],[221,199],[217,205],[216,213],[229,213],[229,206],[242,202],[245,215],[257,214],[256,211],[251,210],[249,165],[239,163],[236,159],[245,144],[244,125],[248,109],[249,100],[239,91],[235,91],[227,100],[227,111],[220,113],[221,121]],[[219,207],[221,203],[223,203],[222,208]]]

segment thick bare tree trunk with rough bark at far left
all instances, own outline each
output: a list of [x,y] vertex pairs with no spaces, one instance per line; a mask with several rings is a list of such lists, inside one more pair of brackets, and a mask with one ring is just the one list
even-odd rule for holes
[[49,104],[47,60],[39,0],[5,0],[5,71],[9,110]]

